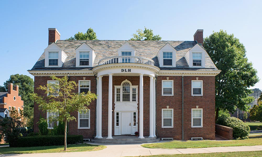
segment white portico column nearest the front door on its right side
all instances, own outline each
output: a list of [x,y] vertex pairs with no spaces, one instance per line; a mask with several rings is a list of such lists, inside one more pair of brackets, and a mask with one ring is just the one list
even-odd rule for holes
[[143,75],[140,75],[140,82],[139,82],[139,137],[144,138],[143,131],[144,131],[144,124],[143,124],[143,106],[144,106],[144,92],[143,92]]

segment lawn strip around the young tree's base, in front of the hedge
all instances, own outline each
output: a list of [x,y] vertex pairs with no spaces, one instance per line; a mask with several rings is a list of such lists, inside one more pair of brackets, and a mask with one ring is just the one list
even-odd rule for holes
[[64,146],[41,146],[41,147],[0,147],[0,154],[28,154],[28,153],[57,153],[57,152],[86,152],[105,149],[104,145],[70,144],[67,151]]

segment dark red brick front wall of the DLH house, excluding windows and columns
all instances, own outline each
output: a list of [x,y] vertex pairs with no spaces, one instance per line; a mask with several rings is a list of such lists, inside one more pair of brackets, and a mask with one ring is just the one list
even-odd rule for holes
[[[91,80],[90,90],[96,93],[95,76],[70,76],[70,81]],[[174,81],[174,95],[162,96],[162,80]],[[191,96],[191,81],[203,80],[203,96]],[[102,136],[107,137],[108,127],[108,76],[102,77]],[[112,110],[114,111],[114,86],[120,86],[121,82],[127,79],[132,86],[138,86],[138,131],[139,131],[139,76],[114,76],[113,75],[113,94]],[[49,76],[35,76],[35,92],[38,95],[46,96],[43,91],[37,90],[40,85],[46,85]],[[150,77],[144,76],[144,136],[149,136],[149,113],[150,113]],[[78,92],[78,89],[75,89]],[[173,109],[173,128],[162,128],[162,109],[167,105]],[[203,127],[191,127],[191,109],[203,109]],[[96,101],[93,101],[88,108],[90,109],[90,129],[78,129],[78,122],[69,122],[69,134],[81,134],[84,138],[92,138],[96,134]],[[184,76],[184,140],[191,137],[203,137],[203,139],[215,139],[215,76]],[[38,131],[37,122],[40,114],[46,118],[46,113],[39,111],[38,105],[34,105],[34,131]],[[73,115],[78,119],[78,113]],[[156,130],[160,138],[172,137],[182,140],[182,76],[158,76],[156,79]],[[112,112],[112,135],[114,136],[114,112]]]

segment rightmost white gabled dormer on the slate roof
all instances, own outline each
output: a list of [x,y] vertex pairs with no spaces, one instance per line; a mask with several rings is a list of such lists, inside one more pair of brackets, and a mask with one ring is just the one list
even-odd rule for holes
[[190,68],[205,68],[205,54],[205,49],[196,44],[185,54],[185,59]]

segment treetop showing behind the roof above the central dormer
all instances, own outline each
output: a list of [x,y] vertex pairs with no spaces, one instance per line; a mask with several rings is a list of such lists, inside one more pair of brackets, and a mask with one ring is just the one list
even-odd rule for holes
[[145,27],[145,30],[138,29],[137,34],[133,34],[133,38],[130,40],[161,40],[162,37],[159,35],[154,35],[153,30],[147,29]]

